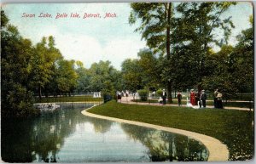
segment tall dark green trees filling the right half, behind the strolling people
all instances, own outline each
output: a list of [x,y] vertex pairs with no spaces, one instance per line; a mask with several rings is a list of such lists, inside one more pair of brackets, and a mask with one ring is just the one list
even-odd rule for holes
[[[231,46],[235,25],[227,11],[232,5],[236,3],[131,3],[129,21],[139,23],[136,31],[154,57],[150,68],[137,65],[136,76],[142,78],[139,87],[167,88],[168,93],[219,88],[226,99],[253,93],[253,16],[248,18],[251,27],[241,31],[238,43]],[[214,52],[216,47],[221,50]],[[144,57],[150,63],[152,57]],[[137,63],[142,61],[146,60]],[[125,72],[134,76],[133,71]],[[147,81],[148,77],[155,81]]]

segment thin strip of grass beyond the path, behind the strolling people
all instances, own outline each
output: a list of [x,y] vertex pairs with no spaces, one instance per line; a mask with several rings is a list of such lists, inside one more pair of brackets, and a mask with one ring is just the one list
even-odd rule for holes
[[[147,103],[158,103],[157,99],[148,99],[147,101],[142,101],[141,99],[132,99],[133,102],[147,102]],[[168,104],[168,102],[166,101]],[[173,99],[173,104],[177,105],[177,99]],[[187,101],[182,101],[182,105],[186,105]],[[207,101],[207,105],[213,106],[213,101]],[[253,107],[253,102],[227,102],[224,103],[225,107],[232,106],[232,107],[240,107],[240,108],[250,108]]]

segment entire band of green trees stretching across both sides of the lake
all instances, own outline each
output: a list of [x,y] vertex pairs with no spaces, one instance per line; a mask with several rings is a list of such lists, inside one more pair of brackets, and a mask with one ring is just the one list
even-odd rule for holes
[[[231,5],[236,3],[131,3],[129,22],[139,22],[136,31],[148,48],[137,59],[125,59],[121,71],[109,61],[86,69],[80,61],[64,59],[52,36],[33,44],[1,10],[2,116],[36,112],[34,96],[102,92],[114,97],[116,91],[162,88],[168,93],[220,88],[226,99],[253,93],[253,16],[251,27],[231,46],[235,26],[231,16],[223,16]],[[212,50],[216,46],[220,51]]]

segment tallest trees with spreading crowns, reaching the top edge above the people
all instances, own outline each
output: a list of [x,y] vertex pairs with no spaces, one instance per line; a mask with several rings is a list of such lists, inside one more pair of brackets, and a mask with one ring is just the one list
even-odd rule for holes
[[[189,57],[189,65],[192,66],[192,75],[196,76],[194,85],[199,84],[198,88],[201,90],[202,77],[206,76],[205,58],[211,48],[210,44],[227,42],[230,29],[234,27],[231,17],[220,19],[232,4],[236,3],[177,3],[174,10],[172,3],[131,3],[130,23],[141,20],[136,31],[142,32],[142,38],[154,53],[166,55],[166,59],[162,61],[162,65],[166,66],[162,67],[161,79],[167,84],[170,102],[172,87],[181,88],[178,75],[186,72],[177,65],[184,63],[184,58],[180,58],[182,54],[192,55]],[[223,29],[224,32],[224,38],[220,41],[213,37],[217,29]],[[182,53],[183,47],[187,52]],[[180,52],[177,53],[177,50]]]

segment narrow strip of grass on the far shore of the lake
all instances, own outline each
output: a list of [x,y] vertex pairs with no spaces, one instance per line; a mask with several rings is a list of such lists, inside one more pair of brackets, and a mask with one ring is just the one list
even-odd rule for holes
[[65,97],[49,97],[36,99],[36,103],[54,103],[54,102],[90,102],[102,101],[102,98],[93,98],[92,96],[65,96]]

